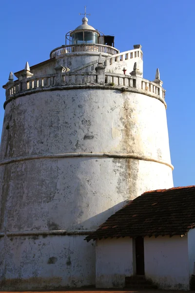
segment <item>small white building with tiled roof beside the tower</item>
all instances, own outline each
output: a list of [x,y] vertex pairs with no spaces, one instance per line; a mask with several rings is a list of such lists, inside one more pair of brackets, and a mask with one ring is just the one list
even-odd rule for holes
[[148,191],[86,237],[96,240],[96,287],[145,275],[160,289],[189,290],[195,270],[195,186]]

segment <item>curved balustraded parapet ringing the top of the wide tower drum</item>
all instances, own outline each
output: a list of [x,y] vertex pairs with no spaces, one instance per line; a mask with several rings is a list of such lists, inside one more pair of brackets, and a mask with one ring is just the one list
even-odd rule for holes
[[[55,90],[59,87],[69,89],[70,86],[86,86],[97,87],[103,86],[106,88],[117,88],[121,91],[134,91],[160,100],[165,106],[165,90],[159,84],[150,82],[141,77],[115,74],[105,72],[103,74],[104,83],[98,81],[98,73],[94,72],[57,72],[56,74],[44,75],[36,78],[23,78],[21,81],[9,82],[6,88],[6,102],[4,107],[11,100],[16,99],[21,95],[31,94],[32,91]],[[102,77],[101,77],[102,78]]]

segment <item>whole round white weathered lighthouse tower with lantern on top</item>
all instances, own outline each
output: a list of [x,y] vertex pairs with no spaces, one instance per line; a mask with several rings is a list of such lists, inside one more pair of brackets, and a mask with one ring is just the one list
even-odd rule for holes
[[95,285],[83,239],[147,190],[173,187],[165,90],[141,45],[88,24],[10,73],[0,145],[0,288]]

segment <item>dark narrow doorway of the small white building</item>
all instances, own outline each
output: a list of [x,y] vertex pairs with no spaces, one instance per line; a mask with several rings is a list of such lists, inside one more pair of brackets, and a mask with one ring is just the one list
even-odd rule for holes
[[144,238],[142,236],[138,236],[135,239],[135,247],[136,247],[136,274],[144,275]]

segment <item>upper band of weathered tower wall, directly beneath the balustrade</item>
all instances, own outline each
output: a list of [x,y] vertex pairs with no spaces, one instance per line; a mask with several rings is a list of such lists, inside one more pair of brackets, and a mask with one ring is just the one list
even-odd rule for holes
[[171,163],[165,106],[105,89],[39,92],[6,105],[1,159],[69,152],[137,153]]

